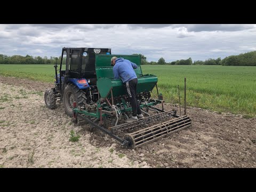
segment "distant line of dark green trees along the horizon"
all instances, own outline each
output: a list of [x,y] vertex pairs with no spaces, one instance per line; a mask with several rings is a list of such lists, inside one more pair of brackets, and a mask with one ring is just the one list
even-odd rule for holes
[[[143,54],[133,54],[141,56],[141,65],[222,65],[222,66],[256,66],[256,51],[242,53],[239,55],[231,55],[221,60],[218,59],[207,59],[205,61],[197,60],[192,61],[191,58],[181,59],[172,62],[165,62],[164,58],[160,58],[157,62],[147,61],[147,57]],[[66,59],[66,58],[65,58]],[[60,64],[61,57],[57,59],[57,64]],[[0,64],[55,64],[56,58],[50,57],[33,57],[26,55],[7,56],[0,54]]]

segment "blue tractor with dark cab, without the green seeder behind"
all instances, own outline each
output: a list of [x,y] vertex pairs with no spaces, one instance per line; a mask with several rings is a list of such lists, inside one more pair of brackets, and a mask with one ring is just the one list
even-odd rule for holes
[[[74,101],[80,107],[93,108],[99,100],[95,54],[111,54],[111,49],[63,47],[59,74],[55,65],[55,87],[46,89],[46,107],[54,109],[56,100],[63,101],[66,113],[73,116]],[[66,69],[62,68],[66,66]],[[61,77],[61,78],[60,78]]]

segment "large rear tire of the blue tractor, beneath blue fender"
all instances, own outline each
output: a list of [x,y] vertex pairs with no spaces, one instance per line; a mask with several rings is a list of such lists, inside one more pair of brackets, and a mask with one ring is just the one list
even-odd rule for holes
[[69,83],[64,90],[63,105],[66,113],[73,116],[73,102],[76,101],[76,106],[83,106],[86,104],[85,92],[79,90],[78,87],[72,83]]

